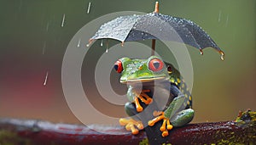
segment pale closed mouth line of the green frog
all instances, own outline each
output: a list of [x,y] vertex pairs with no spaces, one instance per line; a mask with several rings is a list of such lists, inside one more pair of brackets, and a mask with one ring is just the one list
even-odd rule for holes
[[122,84],[131,84],[131,83],[142,83],[142,82],[150,82],[150,81],[166,81],[165,76],[159,77],[147,77],[147,78],[139,78],[139,79],[127,79],[127,80],[120,80]]

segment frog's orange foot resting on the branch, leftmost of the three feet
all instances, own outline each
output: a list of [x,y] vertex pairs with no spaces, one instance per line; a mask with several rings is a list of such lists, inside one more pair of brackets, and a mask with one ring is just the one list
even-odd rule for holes
[[133,135],[137,135],[139,130],[143,130],[143,122],[133,119],[119,119],[120,125],[125,125],[127,131],[131,131]]

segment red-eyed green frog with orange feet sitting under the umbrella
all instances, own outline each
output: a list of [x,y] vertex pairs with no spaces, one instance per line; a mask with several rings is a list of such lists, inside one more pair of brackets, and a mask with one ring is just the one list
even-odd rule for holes
[[[119,119],[119,124],[133,135],[137,135],[145,125],[154,126],[160,122],[161,136],[167,137],[172,128],[187,125],[193,120],[192,96],[172,64],[154,55],[148,59],[124,57],[115,62],[113,69],[120,74],[119,82],[128,86],[126,95],[129,102],[125,103],[125,112],[129,117]],[[147,112],[153,117],[147,117],[146,121],[137,117],[155,102],[160,107]]]

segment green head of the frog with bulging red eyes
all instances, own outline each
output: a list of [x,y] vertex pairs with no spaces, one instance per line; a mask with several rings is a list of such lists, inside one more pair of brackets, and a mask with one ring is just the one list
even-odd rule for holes
[[148,59],[119,59],[113,68],[121,73],[121,83],[166,81],[170,78],[166,64],[158,57]]

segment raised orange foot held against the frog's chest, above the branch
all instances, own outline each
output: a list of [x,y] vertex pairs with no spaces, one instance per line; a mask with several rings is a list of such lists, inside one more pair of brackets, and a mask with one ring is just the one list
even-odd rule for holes
[[136,105],[137,112],[143,111],[143,107],[140,104],[139,99],[145,104],[152,102],[152,98],[150,98],[146,92],[150,92],[150,90],[142,90],[142,92],[137,92],[137,90],[134,90],[134,93],[136,94],[134,97],[134,103]]

